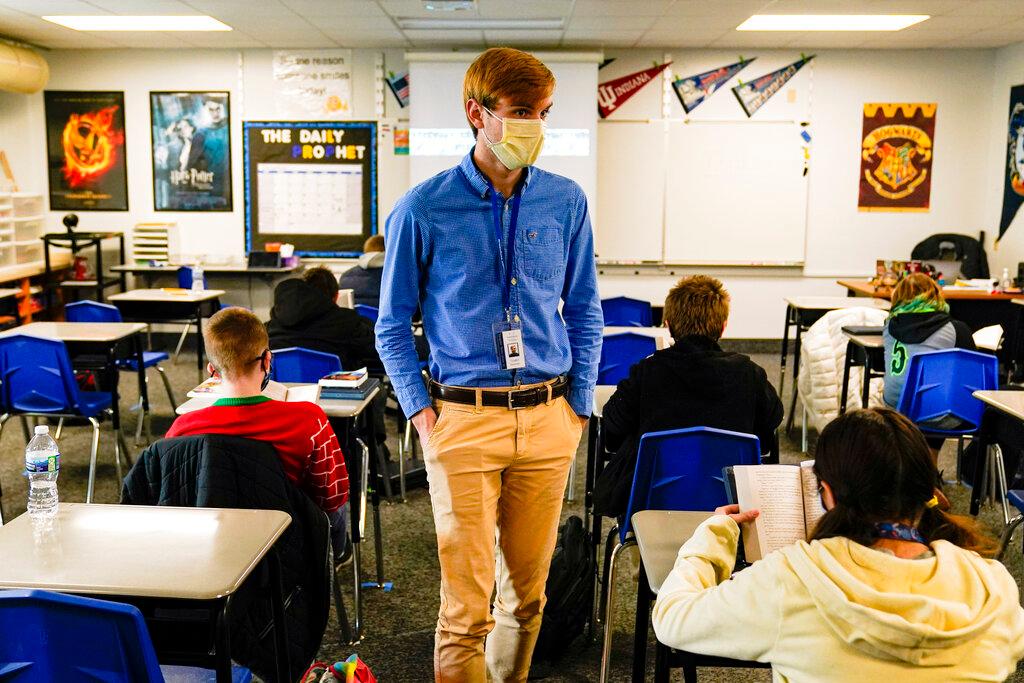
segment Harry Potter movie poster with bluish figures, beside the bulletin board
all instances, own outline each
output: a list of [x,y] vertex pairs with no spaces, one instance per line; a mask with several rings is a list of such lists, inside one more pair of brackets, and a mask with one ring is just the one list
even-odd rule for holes
[[157,211],[231,210],[226,92],[151,92]]

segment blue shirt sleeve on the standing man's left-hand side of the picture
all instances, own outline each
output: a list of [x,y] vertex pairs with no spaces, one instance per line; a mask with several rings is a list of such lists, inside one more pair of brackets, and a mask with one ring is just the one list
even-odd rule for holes
[[430,408],[413,341],[413,314],[420,305],[422,226],[407,195],[387,219],[377,350],[406,417]]

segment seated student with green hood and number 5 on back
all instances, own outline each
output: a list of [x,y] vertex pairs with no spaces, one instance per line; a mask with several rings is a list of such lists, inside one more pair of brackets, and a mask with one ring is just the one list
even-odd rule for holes
[[949,304],[942,298],[942,288],[923,272],[907,275],[896,285],[882,337],[886,360],[885,400],[892,408],[899,402],[906,383],[906,369],[914,354],[954,347],[975,350],[970,328],[949,316]]

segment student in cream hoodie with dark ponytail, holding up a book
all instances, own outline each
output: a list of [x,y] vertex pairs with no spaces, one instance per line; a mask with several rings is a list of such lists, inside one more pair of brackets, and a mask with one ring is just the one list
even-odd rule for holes
[[736,506],[679,550],[654,605],[676,649],[772,665],[775,681],[1004,681],[1024,656],[1017,585],[994,542],[937,504],[921,432],[888,409],[847,413],[817,444],[827,512],[810,543],[732,574]]

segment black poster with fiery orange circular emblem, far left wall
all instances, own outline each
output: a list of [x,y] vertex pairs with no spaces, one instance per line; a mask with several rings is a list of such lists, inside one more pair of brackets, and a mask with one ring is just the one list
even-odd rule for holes
[[127,211],[124,93],[44,95],[50,210]]

